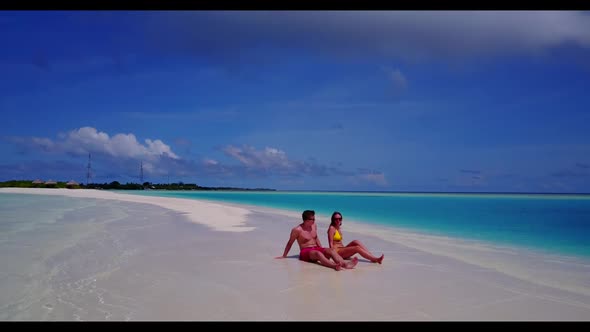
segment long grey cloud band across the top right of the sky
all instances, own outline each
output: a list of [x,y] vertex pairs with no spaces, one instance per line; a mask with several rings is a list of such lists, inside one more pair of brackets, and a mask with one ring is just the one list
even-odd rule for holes
[[[159,24],[158,30],[163,32],[159,36],[159,41],[165,43],[162,46],[199,54],[206,46],[212,58],[224,55],[225,61],[232,61],[231,54],[246,51],[250,45],[408,60],[534,54],[566,44],[590,48],[590,15],[583,11],[256,11],[166,15],[173,19],[158,16],[160,20],[151,21]],[[219,44],[211,36],[218,36],[224,43]],[[200,47],[188,48],[191,40]]]

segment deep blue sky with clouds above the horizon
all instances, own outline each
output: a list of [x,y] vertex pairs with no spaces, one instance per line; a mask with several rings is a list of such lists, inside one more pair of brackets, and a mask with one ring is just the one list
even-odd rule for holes
[[0,180],[590,192],[590,13],[3,11]]

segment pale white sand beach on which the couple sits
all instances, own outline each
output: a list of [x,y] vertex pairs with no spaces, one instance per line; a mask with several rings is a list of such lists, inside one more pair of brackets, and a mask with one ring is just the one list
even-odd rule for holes
[[[14,254],[0,253],[2,320],[590,319],[584,260],[347,222],[345,241],[359,239],[385,260],[359,258],[355,269],[334,271],[299,261],[297,244],[275,259],[300,213],[99,190],[2,193],[96,200],[64,215],[68,232],[81,225],[68,243],[6,239],[2,248]],[[116,217],[101,219],[97,211],[107,208]],[[326,246],[329,217],[316,223]],[[27,262],[14,258],[21,250],[37,260],[27,273],[18,272]]]

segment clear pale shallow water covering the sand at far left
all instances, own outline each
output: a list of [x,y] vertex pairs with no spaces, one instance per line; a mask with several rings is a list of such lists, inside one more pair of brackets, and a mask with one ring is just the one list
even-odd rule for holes
[[128,320],[133,301],[99,285],[147,248],[133,228],[153,221],[133,211],[170,221],[145,204],[1,194],[0,320]]

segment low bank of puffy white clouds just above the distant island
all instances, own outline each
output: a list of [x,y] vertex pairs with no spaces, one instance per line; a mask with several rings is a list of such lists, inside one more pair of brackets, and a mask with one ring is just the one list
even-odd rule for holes
[[[78,157],[85,158],[86,154],[91,153],[93,172],[100,174],[100,179],[126,177],[136,181],[141,165],[141,171],[147,177],[144,180],[148,181],[153,181],[151,179],[154,176],[203,176],[204,174],[218,178],[278,176],[276,181],[303,181],[302,178],[307,176],[345,176],[363,183],[387,185],[384,174],[377,171],[366,169],[357,172],[345,171],[339,167],[317,163],[313,158],[308,161],[292,160],[285,151],[269,146],[261,150],[253,146],[226,146],[222,149],[223,152],[239,162],[237,165],[231,165],[211,158],[203,158],[200,162],[185,160],[178,157],[161,140],[146,139],[145,144],[141,144],[133,134],[115,134],[111,137],[92,127],[72,130],[59,135],[55,140],[14,137],[12,141],[32,151],[45,151],[58,156],[67,154],[78,160]],[[73,169],[77,169],[75,171],[80,174],[85,172],[85,168],[80,164]],[[57,171],[54,169],[52,172],[56,174]],[[71,172],[72,170],[68,170],[68,173]]]

